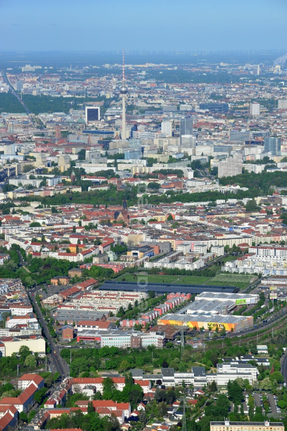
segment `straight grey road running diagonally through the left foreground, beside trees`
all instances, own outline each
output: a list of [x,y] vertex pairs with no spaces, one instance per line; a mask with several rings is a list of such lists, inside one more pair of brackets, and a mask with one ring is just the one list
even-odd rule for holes
[[[48,344],[51,349],[50,359],[52,360],[52,364],[54,365],[56,371],[58,371],[64,379],[70,374],[70,369],[68,364],[64,361],[64,359],[61,358],[61,350],[57,344],[54,343],[54,340],[52,339],[49,329],[46,325],[45,319],[43,318],[43,315],[41,313],[40,307],[37,304],[37,301],[34,296],[31,296],[31,300],[33,302],[34,309],[36,310],[38,319],[40,321],[40,324],[42,325],[44,335],[48,341]],[[54,353],[56,352],[56,353]]]

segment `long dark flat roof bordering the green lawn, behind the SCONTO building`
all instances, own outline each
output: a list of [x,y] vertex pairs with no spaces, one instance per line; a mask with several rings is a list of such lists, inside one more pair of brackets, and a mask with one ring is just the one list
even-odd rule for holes
[[105,281],[99,290],[135,290],[142,292],[150,292],[152,290],[160,294],[170,292],[181,292],[188,294],[200,294],[202,292],[234,293],[238,290],[238,288],[235,286],[213,286],[209,284],[148,283],[145,285],[143,278],[144,275],[140,276],[140,284],[130,281]]

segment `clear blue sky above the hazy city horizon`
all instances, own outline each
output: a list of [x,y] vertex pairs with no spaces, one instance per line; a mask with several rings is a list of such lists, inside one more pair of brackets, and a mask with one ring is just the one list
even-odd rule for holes
[[0,50],[287,49],[287,0],[0,0]]

